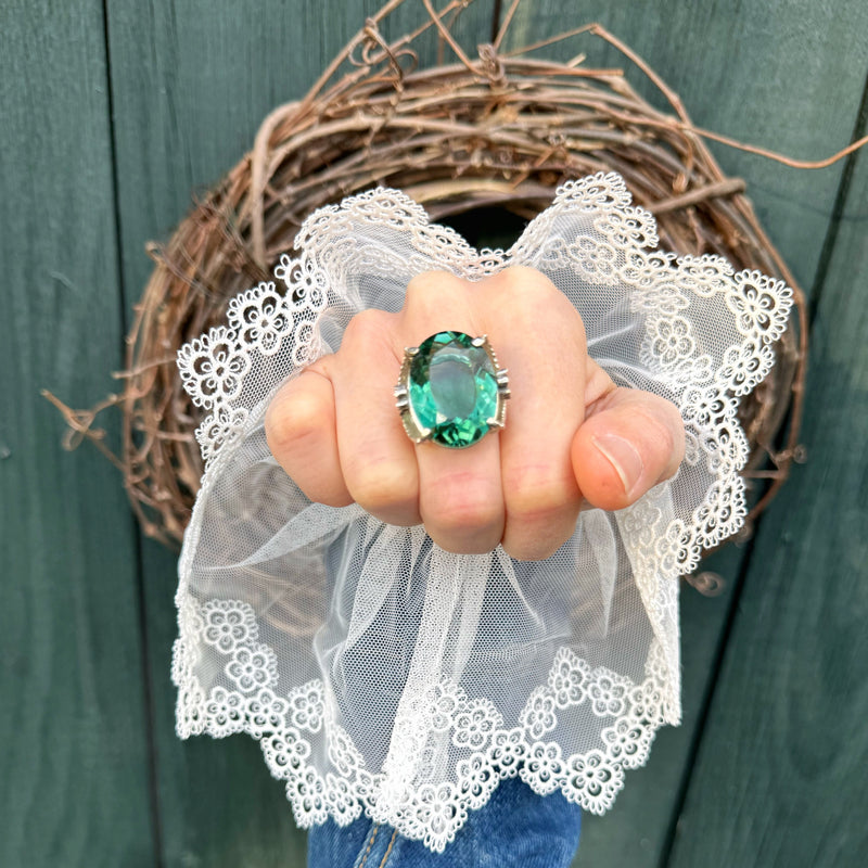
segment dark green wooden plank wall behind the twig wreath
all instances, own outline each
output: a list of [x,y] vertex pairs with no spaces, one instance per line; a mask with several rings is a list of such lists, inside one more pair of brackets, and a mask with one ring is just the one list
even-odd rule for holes
[[[175,563],[118,473],[61,448],[49,388],[116,387],[150,263],[191,191],[301,95],[374,0],[0,3],[0,866],[301,866],[282,786],[244,737],[182,743]],[[457,28],[490,39],[508,3]],[[419,21],[408,0],[393,26]],[[694,122],[816,158],[865,133],[865,0],[525,0],[513,46],[601,22]],[[550,50],[622,61],[601,46]],[[637,75],[638,79],[639,76]],[[808,462],[727,590],[682,599],[685,723],[579,866],[861,866],[868,852],[868,155],[818,171],[715,149],[809,291]],[[116,436],[110,430],[110,437]]]

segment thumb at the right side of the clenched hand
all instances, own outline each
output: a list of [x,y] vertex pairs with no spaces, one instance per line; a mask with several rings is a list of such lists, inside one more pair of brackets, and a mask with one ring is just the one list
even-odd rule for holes
[[685,455],[685,429],[672,401],[614,388],[587,409],[571,447],[583,496],[605,510],[624,509],[669,478]]

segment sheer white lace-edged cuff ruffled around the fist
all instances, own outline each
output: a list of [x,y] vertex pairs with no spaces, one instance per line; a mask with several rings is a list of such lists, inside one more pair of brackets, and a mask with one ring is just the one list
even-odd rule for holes
[[[366,812],[442,851],[501,778],[602,813],[655,730],[680,717],[678,576],[745,514],[739,397],[773,363],[791,292],[718,257],[654,250],[623,180],[560,189],[508,252],[475,251],[404,194],[314,214],[301,257],[179,353],[206,459],[187,531],[173,677],[178,733],[247,732],[297,821]],[[277,465],[275,390],[410,279],[545,272],[618,383],[673,400],[677,475],[616,513],[584,512],[551,558],[457,556],[420,527],[308,501]]]

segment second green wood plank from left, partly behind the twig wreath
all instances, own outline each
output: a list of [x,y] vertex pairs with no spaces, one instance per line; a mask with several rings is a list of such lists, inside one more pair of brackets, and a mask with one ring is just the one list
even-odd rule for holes
[[[123,278],[130,299],[152,267],[145,242],[169,233],[188,210],[191,191],[228,171],[252,146],[266,114],[302,97],[380,5],[126,0],[110,7]],[[489,38],[493,7],[493,0],[476,0],[462,14],[457,33],[464,44]],[[424,14],[421,0],[408,0],[385,36],[406,33]],[[431,43],[427,51],[434,51]],[[305,837],[256,743],[245,736],[188,742],[175,736],[176,559],[149,540],[143,558],[165,865],[302,865]]]

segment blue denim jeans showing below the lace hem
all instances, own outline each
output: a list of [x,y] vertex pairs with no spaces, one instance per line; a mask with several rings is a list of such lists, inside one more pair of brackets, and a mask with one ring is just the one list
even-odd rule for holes
[[578,805],[560,792],[537,795],[519,778],[502,780],[492,799],[471,810],[444,853],[401,838],[363,815],[341,828],[310,830],[308,868],[566,868],[578,846]]

